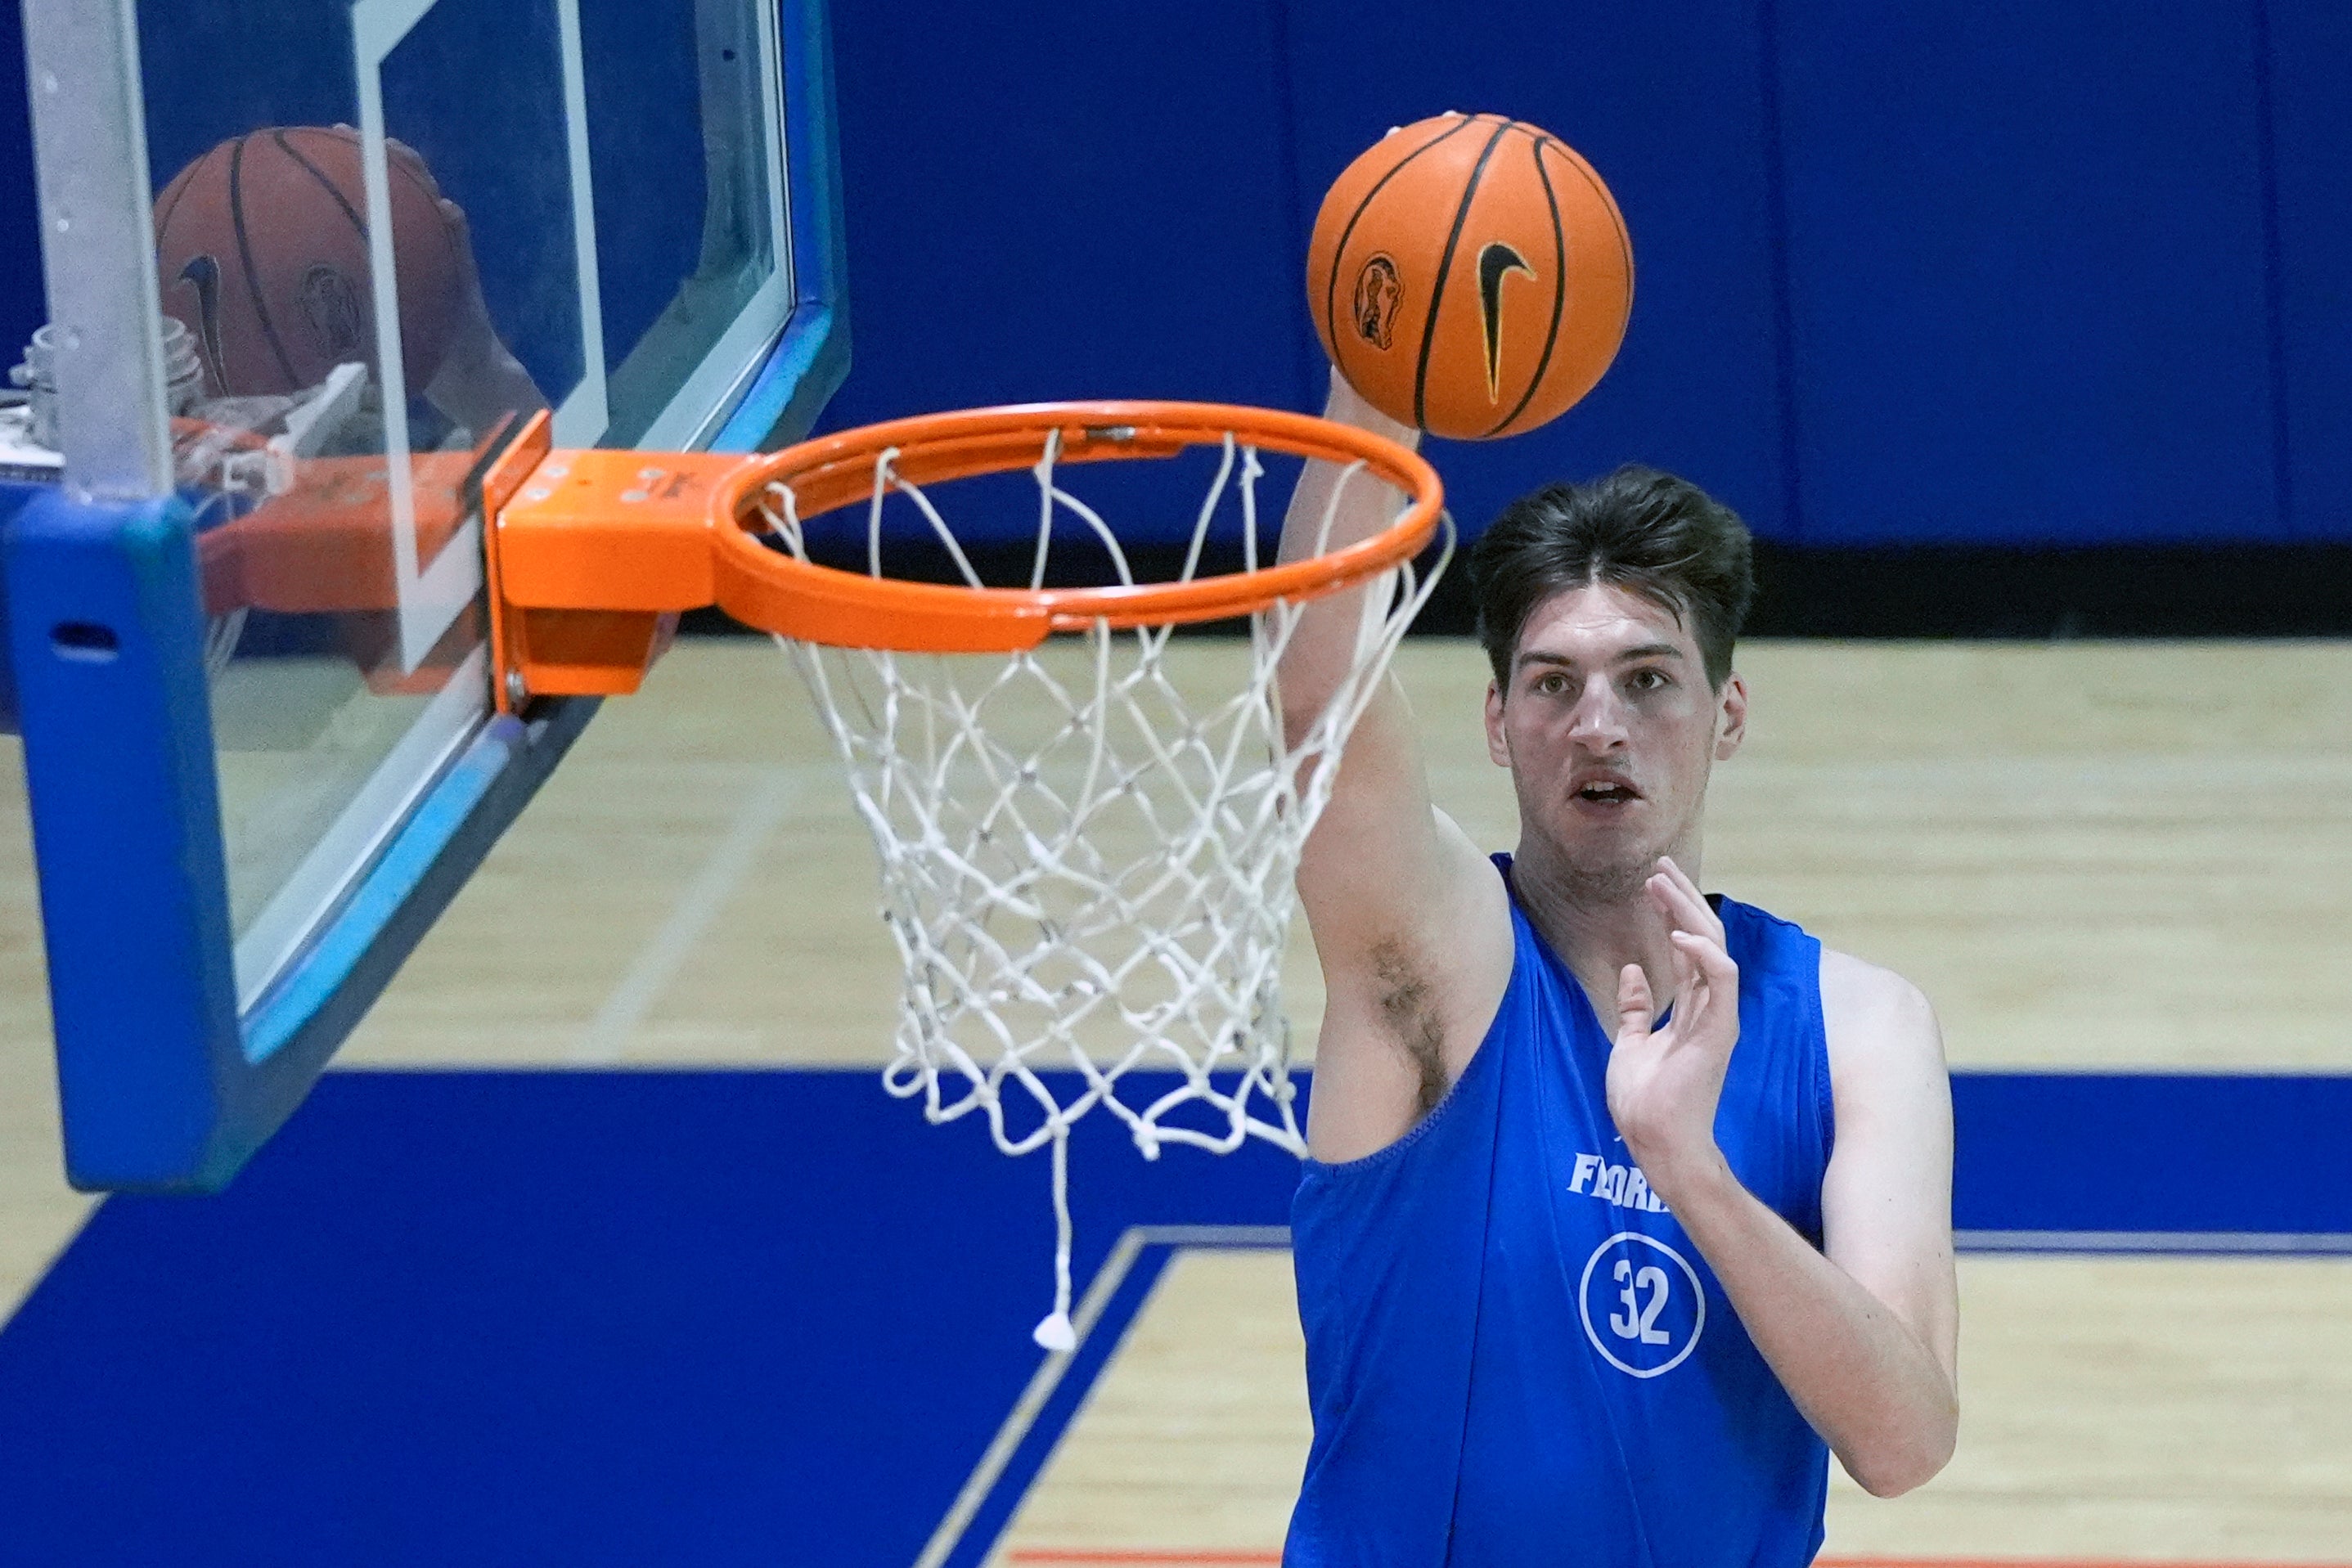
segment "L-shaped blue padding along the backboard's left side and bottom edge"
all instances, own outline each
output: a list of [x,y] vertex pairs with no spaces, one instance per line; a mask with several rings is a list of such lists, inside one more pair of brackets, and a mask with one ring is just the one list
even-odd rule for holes
[[[477,736],[240,1020],[186,505],[47,491],[9,522],[5,569],[66,1175],[219,1187],[301,1103],[595,703]],[[80,637],[61,639],[68,625]]]

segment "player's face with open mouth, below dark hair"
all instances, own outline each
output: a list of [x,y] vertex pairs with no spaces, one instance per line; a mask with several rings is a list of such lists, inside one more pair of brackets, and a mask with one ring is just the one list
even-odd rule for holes
[[1597,893],[1639,889],[1658,856],[1691,865],[1708,776],[1738,750],[1748,689],[1708,686],[1675,611],[1602,583],[1526,618],[1510,686],[1486,693],[1486,750],[1512,771],[1522,856]]

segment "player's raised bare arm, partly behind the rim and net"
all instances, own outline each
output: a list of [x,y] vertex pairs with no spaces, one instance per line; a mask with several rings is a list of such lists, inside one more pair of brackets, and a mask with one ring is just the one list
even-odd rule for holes
[[[1331,418],[1416,444],[1338,376]],[[1336,463],[1308,463],[1282,527],[1282,557],[1378,534],[1395,491]],[[1322,543],[1319,543],[1322,541]],[[1296,736],[1345,677],[1362,592],[1312,602],[1279,668],[1282,717]],[[1395,675],[1357,719],[1331,804],[1298,860],[1298,898],[1324,971],[1308,1143],[1317,1159],[1371,1154],[1444,1095],[1510,978],[1510,907],[1501,877],[1430,802],[1411,705]]]

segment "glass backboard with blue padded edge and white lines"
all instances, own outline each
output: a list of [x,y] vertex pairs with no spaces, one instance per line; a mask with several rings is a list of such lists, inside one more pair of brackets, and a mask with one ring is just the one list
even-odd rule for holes
[[[494,703],[475,482],[499,444],[546,409],[567,447],[750,449],[804,430],[837,383],[823,9],[134,0],[108,33],[85,5],[28,5],[45,214],[87,209],[111,160],[120,202],[146,216],[139,327],[160,362],[169,484],[153,489],[169,498],[75,484],[78,461],[103,475],[101,447],[146,433],[136,388],[125,428],[111,402],[87,411],[94,369],[68,353],[125,336],[120,303],[71,320],[75,268],[122,259],[99,254],[103,223],[52,221],[59,503],[148,503],[125,527],[183,541],[162,557],[111,543],[141,604],[122,625],[71,604],[75,571],[106,564],[92,529],[28,510],[9,543],[12,649],[71,1175],[212,1185],[299,1100],[586,719],[579,703]],[[45,101],[59,73],[92,92],[113,73],[136,136],[87,101]],[[191,733],[162,778],[111,799],[172,823],[148,870],[174,889],[141,882],[136,835],[120,853],[92,844],[108,832],[89,802],[103,755],[54,733],[155,703]],[[186,755],[195,731],[205,766]],[[111,860],[122,877],[92,889]],[[158,1001],[205,1013],[202,1070],[134,1060],[183,1039],[186,1018],[139,1044],[139,1009],[73,994],[103,971],[73,943],[139,929],[113,907],[132,898],[146,922],[158,898],[191,907],[191,931],[158,940],[186,950],[193,980]],[[188,1105],[172,1121],[158,1100]],[[191,1117],[209,1131],[191,1138]],[[167,1121],[176,1154],[103,1152]]]

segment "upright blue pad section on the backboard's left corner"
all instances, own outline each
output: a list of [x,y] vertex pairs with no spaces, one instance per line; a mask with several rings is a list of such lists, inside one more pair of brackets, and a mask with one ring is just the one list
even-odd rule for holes
[[5,569],[68,1166],[186,1178],[240,1067],[193,522],[52,491]]

